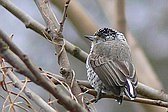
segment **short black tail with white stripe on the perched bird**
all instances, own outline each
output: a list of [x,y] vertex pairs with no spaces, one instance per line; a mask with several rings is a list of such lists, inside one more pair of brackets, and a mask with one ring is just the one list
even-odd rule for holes
[[134,100],[137,96],[136,88],[129,79],[127,79],[124,93],[131,100]]

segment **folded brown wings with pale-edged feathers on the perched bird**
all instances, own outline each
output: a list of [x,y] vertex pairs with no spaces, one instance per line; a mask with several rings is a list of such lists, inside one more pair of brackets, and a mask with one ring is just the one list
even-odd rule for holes
[[137,84],[134,65],[128,61],[108,60],[101,56],[91,56],[90,65],[100,80],[108,86],[125,86],[129,79]]

